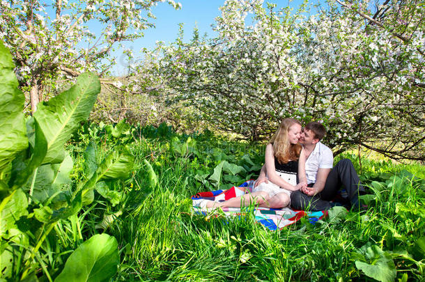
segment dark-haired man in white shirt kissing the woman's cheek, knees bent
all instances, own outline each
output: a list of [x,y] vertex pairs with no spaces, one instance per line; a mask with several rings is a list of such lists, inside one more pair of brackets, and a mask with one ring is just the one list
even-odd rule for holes
[[[348,206],[359,209],[359,193],[364,193],[360,179],[349,159],[341,159],[332,168],[332,150],[320,142],[325,127],[317,122],[308,123],[300,136],[303,150],[298,166],[299,190],[291,193],[291,205],[295,210],[329,210],[335,203],[330,201],[342,187],[348,193]],[[265,168],[261,169],[258,183],[267,182]]]

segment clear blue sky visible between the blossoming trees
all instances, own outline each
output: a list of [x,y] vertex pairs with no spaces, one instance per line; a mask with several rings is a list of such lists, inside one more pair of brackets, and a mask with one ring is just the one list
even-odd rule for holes
[[[178,0],[176,0],[177,2]],[[156,27],[155,29],[147,29],[144,31],[144,37],[135,40],[134,42],[125,42],[127,49],[132,49],[134,56],[138,56],[139,50],[142,48],[153,49],[155,42],[164,41],[166,44],[173,42],[178,37],[178,24],[183,23],[185,31],[185,41],[192,38],[192,31],[195,26],[199,29],[199,34],[203,36],[207,33],[208,37],[215,36],[212,31],[211,24],[215,23],[215,17],[220,15],[219,7],[224,4],[224,0],[180,0],[182,4],[180,10],[174,10],[167,2],[159,3],[153,7],[153,14],[157,19],[153,20]],[[278,7],[286,7],[290,5],[293,8],[302,3],[302,0],[265,0],[265,2],[277,3]],[[125,74],[125,56],[123,56],[123,49],[118,49],[111,54],[116,56],[117,65],[115,66],[115,75]]]

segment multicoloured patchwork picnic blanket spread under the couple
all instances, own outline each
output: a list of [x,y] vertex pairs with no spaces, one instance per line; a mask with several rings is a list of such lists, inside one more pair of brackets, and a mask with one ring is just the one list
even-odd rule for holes
[[[229,198],[242,196],[244,194],[252,192],[254,188],[254,180],[248,180],[238,187],[231,187],[227,190],[216,190],[216,191],[206,191],[198,193],[192,196],[193,200],[199,200],[200,198],[205,198],[211,201],[226,201]],[[208,210],[202,209],[192,205],[194,212],[198,214],[207,215]],[[246,208],[245,208],[246,210]],[[242,215],[242,210],[240,207],[222,207],[222,211],[226,214],[226,217],[240,217]],[[211,212],[211,210],[210,210]],[[283,209],[273,209],[267,207],[255,207],[254,210],[255,219],[258,223],[263,224],[269,230],[282,229],[285,226],[294,224],[299,221],[302,217],[308,217],[311,224],[314,224],[319,219],[322,219],[327,215],[326,211],[320,212],[304,212],[302,210],[291,210],[288,207]]]

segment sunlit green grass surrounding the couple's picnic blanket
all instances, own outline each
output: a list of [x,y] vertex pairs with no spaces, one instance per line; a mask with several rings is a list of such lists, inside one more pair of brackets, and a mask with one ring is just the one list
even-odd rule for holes
[[[272,232],[256,224],[253,214],[229,219],[219,212],[203,217],[190,210],[190,196],[199,191],[229,187],[232,183],[226,179],[255,178],[258,167],[249,171],[253,166],[244,156],[262,164],[263,146],[209,133],[182,136],[164,130],[159,134],[153,128],[139,132],[126,141],[136,157],[132,178],[117,186],[131,195],[131,201],[111,205],[95,194],[95,203],[86,207],[86,213],[56,226],[59,249],[75,249],[82,242],[75,237],[77,224],[86,240],[102,232],[95,225],[105,214],[123,210],[105,230],[118,240],[121,256],[114,281],[374,281],[357,267],[359,263],[383,267],[377,272],[396,269],[395,280],[405,281],[406,276],[408,281],[424,280],[424,166],[362,159],[361,178],[371,194],[366,199],[369,210],[315,225],[302,219]],[[99,159],[119,143],[119,138],[96,136],[91,139],[98,143]],[[68,148],[75,157],[75,178],[82,177],[81,155],[88,141],[79,140]],[[336,161],[343,157],[352,159],[360,171],[356,155],[343,154]],[[154,187],[144,159],[157,175]],[[222,171],[220,181],[212,182],[209,176],[224,160],[244,166],[245,171],[238,178]],[[202,173],[208,174],[203,178],[206,182],[196,180]],[[378,252],[373,254],[375,247]],[[67,256],[61,255],[56,264],[60,266]]]

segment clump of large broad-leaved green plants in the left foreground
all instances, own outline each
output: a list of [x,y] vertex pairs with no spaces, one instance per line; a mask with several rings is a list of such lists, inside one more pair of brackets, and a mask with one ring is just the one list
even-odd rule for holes
[[[102,182],[114,185],[119,179],[127,179],[134,159],[125,148],[113,150],[100,164],[93,159],[93,153],[88,153],[86,179],[72,182],[73,162],[63,146],[72,132],[88,118],[100,91],[98,77],[91,73],[80,75],[75,86],[49,102],[43,102],[27,120],[26,132],[22,134],[22,128],[25,130],[22,126],[25,122],[23,93],[17,88],[10,53],[3,44],[0,44],[0,51],[0,65],[3,66],[0,76],[6,78],[6,87],[0,93],[1,107],[15,117],[13,125],[2,123],[0,127],[3,136],[0,152],[5,157],[0,167],[1,276],[10,281],[36,280],[42,269],[46,278],[52,281],[49,272],[52,269],[57,271],[63,265],[63,254],[56,255],[51,249],[52,244],[60,244],[57,239],[52,239],[55,237],[51,237],[52,230],[56,235],[66,235],[58,226],[68,220],[75,226],[77,213],[83,205],[94,200],[95,185]],[[20,112],[17,112],[19,108]],[[11,139],[15,139],[17,146],[10,146]],[[107,194],[109,187],[103,188]],[[79,223],[77,226],[78,238],[82,240]],[[78,242],[76,234],[75,243]],[[93,249],[98,244],[102,244],[103,249]],[[64,247],[72,251],[66,244]],[[87,252],[93,257],[88,257]],[[98,235],[72,253],[62,276],[58,276],[59,281],[63,276],[66,279],[75,276],[77,281],[77,277],[82,277],[82,267],[75,265],[79,256],[86,257],[86,267],[92,263],[92,272],[86,273],[91,277],[89,280],[108,279],[116,272],[116,240],[108,235]],[[96,273],[100,269],[102,273]]]

